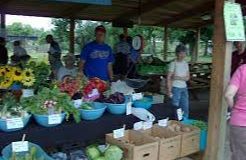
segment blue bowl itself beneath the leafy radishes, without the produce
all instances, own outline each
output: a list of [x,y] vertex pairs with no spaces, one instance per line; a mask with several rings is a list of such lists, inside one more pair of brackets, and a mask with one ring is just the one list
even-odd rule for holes
[[[59,124],[49,124],[49,118],[48,118],[49,115],[34,114],[33,116],[34,116],[34,119],[36,120],[36,122],[43,127],[55,127],[55,126],[59,125]],[[61,123],[62,123],[66,117],[66,114],[61,113],[61,117],[62,117],[62,121],[61,121]]]

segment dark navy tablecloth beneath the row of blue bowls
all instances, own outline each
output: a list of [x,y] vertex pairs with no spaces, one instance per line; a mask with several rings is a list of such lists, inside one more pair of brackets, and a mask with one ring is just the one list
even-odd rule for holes
[[[152,112],[156,119],[166,117],[174,118],[174,111],[169,104],[154,105]],[[42,148],[58,147],[64,144],[80,143],[85,144],[89,141],[104,138],[106,133],[122,127],[132,128],[139,119],[133,115],[112,115],[105,113],[103,117],[93,121],[84,121],[75,123],[73,121],[64,122],[63,124],[45,128],[38,126],[34,121],[29,123],[26,128],[16,132],[0,132],[0,150],[13,141],[21,140],[23,134],[26,134],[26,140],[40,145]]]

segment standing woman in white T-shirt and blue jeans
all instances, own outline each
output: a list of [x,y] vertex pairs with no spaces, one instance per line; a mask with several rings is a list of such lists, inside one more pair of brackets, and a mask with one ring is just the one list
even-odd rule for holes
[[180,107],[184,117],[189,117],[189,94],[187,81],[190,79],[189,65],[185,62],[187,49],[184,45],[176,47],[176,60],[171,62],[167,76],[168,96],[175,107]]

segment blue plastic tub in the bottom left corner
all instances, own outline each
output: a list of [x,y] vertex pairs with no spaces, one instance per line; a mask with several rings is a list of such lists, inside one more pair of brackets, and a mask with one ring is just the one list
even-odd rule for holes
[[[37,156],[38,157],[43,157],[44,160],[53,160],[53,158],[49,157],[43,150],[41,147],[39,147],[36,144],[30,143],[29,142],[29,148],[35,147],[37,149]],[[16,156],[18,157],[22,157],[25,156],[26,152],[20,152],[20,153],[16,153]],[[11,156],[12,156],[12,145],[9,144],[8,146],[4,147],[4,149],[2,150],[2,158],[4,160],[10,160]],[[0,158],[1,159],[1,158]]]

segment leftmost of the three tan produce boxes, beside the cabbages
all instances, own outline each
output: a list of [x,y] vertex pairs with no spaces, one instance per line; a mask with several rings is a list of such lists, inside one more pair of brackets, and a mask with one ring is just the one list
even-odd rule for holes
[[138,131],[126,130],[125,136],[118,139],[107,134],[106,143],[122,148],[124,160],[158,160],[158,141]]

